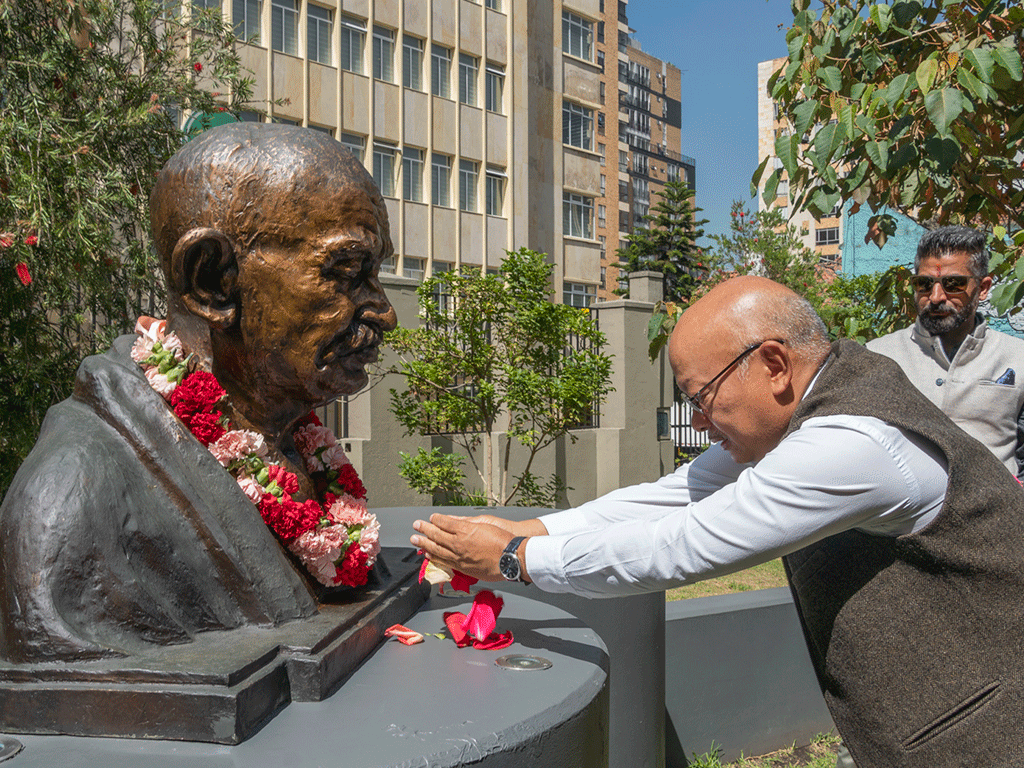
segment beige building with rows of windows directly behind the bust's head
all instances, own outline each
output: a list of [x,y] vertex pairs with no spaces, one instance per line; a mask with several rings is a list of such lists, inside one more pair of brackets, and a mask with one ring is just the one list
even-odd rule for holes
[[[218,0],[193,0],[209,7]],[[599,0],[222,0],[265,115],[328,131],[422,279],[528,247],[554,295],[600,283]]]

